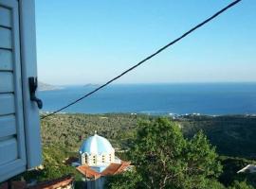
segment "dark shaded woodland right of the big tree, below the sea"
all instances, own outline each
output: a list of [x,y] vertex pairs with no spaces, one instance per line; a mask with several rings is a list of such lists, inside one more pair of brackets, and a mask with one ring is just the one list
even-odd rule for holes
[[178,123],[190,137],[202,129],[221,155],[256,159],[256,116],[185,116]]

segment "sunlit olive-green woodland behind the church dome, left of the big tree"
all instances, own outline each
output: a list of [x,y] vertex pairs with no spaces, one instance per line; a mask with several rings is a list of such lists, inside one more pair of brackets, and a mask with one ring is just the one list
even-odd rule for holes
[[116,148],[127,148],[140,119],[149,117],[129,114],[58,114],[42,122],[43,143],[45,146],[64,146],[77,151],[82,141],[97,130]]

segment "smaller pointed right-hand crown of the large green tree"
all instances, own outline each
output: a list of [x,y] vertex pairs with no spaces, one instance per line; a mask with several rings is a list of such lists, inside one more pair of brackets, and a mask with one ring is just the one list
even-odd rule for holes
[[187,184],[185,188],[208,188],[209,180],[218,178],[222,171],[215,147],[210,146],[207,137],[199,131],[192,140],[187,140],[185,150],[185,180],[188,180],[184,182]]

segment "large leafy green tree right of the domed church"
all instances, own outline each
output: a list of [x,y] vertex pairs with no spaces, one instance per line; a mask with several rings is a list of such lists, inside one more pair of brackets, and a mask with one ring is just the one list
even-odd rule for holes
[[[211,188],[210,180],[216,179],[222,168],[215,148],[202,132],[187,140],[166,118],[140,123],[129,153],[140,178],[139,188]],[[125,174],[121,177],[133,180]]]

